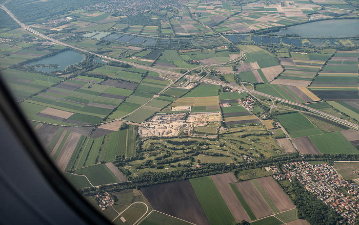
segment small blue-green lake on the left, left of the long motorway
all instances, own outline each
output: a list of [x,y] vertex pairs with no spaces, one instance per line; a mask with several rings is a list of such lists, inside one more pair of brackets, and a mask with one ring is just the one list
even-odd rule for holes
[[67,50],[67,51],[58,53],[56,55],[47,57],[47,58],[33,61],[33,62],[29,63],[28,65],[58,64],[59,65],[58,68],[36,68],[36,70],[38,70],[38,71],[51,72],[51,71],[65,70],[67,68],[67,66],[81,62],[84,59],[85,59],[85,57],[82,54],[73,52],[71,50]]

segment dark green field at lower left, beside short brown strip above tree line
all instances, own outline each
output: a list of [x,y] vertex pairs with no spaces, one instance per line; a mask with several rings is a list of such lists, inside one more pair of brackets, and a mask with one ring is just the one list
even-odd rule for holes
[[98,164],[75,170],[75,174],[85,175],[93,186],[118,183],[117,177],[105,164]]

